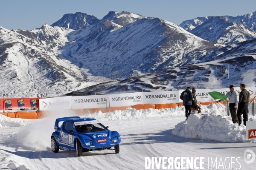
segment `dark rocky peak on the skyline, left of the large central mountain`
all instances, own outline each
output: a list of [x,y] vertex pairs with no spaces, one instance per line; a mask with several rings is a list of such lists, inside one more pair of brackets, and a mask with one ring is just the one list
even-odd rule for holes
[[80,29],[84,26],[92,26],[95,24],[98,18],[93,15],[87,15],[82,12],[76,12],[75,14],[64,14],[64,16],[53,23],[51,26],[65,27],[70,29]]

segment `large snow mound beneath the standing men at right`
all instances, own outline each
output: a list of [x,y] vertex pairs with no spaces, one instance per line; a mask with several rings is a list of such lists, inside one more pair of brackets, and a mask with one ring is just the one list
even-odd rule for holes
[[[252,120],[254,118],[250,118]],[[219,142],[250,142],[246,140],[246,126],[233,124],[231,117],[218,113],[192,114],[188,121],[178,123],[172,134],[193,139]]]

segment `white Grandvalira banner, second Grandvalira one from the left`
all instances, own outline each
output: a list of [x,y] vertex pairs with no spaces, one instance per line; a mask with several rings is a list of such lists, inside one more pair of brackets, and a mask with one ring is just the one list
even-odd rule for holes
[[138,104],[143,104],[143,92],[109,95],[110,107],[130,106]]

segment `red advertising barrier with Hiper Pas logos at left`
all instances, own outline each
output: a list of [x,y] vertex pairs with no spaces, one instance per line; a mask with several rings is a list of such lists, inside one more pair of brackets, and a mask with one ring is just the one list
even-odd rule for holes
[[3,99],[0,101],[0,108],[3,109],[3,103],[5,109],[20,109],[20,108],[38,108],[39,99],[41,98],[12,98]]

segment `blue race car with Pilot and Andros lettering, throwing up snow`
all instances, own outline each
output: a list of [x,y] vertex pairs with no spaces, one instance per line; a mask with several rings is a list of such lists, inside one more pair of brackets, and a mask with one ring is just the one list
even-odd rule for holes
[[106,149],[119,153],[119,133],[108,130],[108,126],[105,127],[96,119],[79,116],[59,118],[55,121],[54,129],[51,147],[55,153],[70,150],[82,156],[82,152]]

